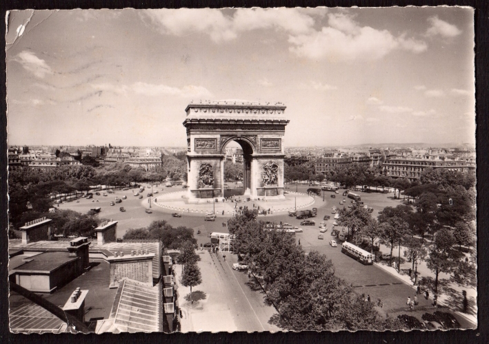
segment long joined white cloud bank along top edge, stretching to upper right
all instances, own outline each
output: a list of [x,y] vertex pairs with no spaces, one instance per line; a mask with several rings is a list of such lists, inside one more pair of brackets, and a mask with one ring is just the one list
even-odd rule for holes
[[147,10],[141,12],[143,20],[163,34],[186,36],[205,33],[215,43],[237,39],[242,32],[276,30],[288,34],[290,52],[306,58],[332,60],[375,60],[393,50],[414,53],[426,51],[425,42],[401,34],[393,36],[388,30],[360,26],[347,14],[327,14],[328,25],[315,29],[315,18],[324,17],[327,9],[312,14],[297,8],[238,9],[226,16],[215,9]]

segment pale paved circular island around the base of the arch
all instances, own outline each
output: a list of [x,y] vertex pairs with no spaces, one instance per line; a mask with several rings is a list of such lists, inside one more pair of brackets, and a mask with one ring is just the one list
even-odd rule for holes
[[[248,209],[256,208],[259,211],[266,211],[266,215],[278,215],[289,211],[299,210],[312,206],[315,202],[314,197],[305,193],[286,192],[281,200],[249,200],[246,196],[235,196],[233,200],[212,199],[206,203],[190,203],[186,197],[186,191],[175,191],[164,193],[156,197],[151,197],[153,206],[159,207],[168,213],[181,213],[181,215],[206,215],[214,213],[224,217],[233,216],[239,207],[247,206]],[[266,216],[261,214],[260,216]]]

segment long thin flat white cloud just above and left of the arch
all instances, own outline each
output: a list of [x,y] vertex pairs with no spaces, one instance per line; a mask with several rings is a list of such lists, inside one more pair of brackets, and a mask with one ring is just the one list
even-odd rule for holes
[[93,84],[92,87],[99,92],[108,91],[116,94],[127,94],[128,92],[134,92],[144,96],[179,96],[183,98],[191,97],[212,97],[206,87],[187,85],[181,88],[172,87],[168,85],[154,85],[149,83],[134,83],[130,86],[127,85],[113,85],[109,83]]

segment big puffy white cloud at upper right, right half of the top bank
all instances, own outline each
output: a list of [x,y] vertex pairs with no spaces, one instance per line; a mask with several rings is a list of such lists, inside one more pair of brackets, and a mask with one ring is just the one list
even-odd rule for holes
[[420,53],[428,45],[407,39],[406,34],[393,36],[388,30],[361,27],[346,14],[328,14],[328,27],[309,34],[290,36],[290,52],[306,58],[329,58],[333,61],[383,58],[394,50]]

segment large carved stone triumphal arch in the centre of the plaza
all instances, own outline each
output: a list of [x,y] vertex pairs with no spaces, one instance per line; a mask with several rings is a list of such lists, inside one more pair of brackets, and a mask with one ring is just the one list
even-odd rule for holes
[[190,103],[187,118],[188,202],[208,202],[224,195],[224,147],[243,148],[243,188],[252,200],[280,200],[283,195],[283,135],[286,106],[219,101]]

